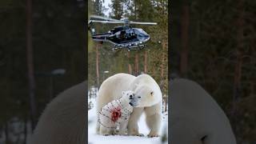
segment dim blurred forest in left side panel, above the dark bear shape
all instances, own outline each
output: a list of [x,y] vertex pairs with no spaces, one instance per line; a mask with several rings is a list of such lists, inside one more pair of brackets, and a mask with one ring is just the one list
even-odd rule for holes
[[[25,143],[31,133],[26,2],[0,2],[0,143]],[[84,81],[85,8],[83,1],[32,1],[36,122],[51,98]]]

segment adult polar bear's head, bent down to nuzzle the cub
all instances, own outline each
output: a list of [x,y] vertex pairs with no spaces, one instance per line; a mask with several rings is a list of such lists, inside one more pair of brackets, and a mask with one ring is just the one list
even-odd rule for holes
[[131,103],[134,107],[147,107],[153,106],[162,101],[162,94],[158,89],[152,88],[152,86],[136,85],[134,90],[134,98],[131,99]]

